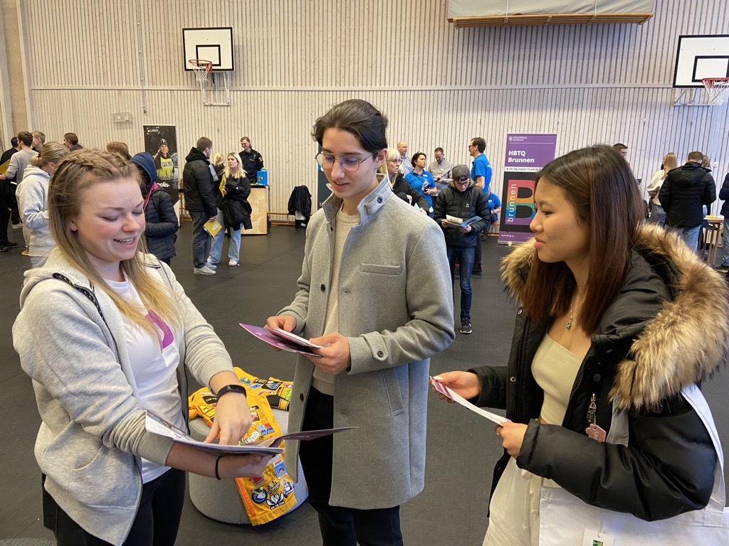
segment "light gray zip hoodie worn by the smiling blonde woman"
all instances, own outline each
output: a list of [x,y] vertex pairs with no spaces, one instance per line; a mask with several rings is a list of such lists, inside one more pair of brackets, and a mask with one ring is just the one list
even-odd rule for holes
[[[184,336],[174,342],[184,401],[184,364],[202,384],[233,365],[171,269],[152,255],[145,259],[178,306]],[[124,319],[104,290],[58,248],[25,276],[12,336],[23,371],[33,379],[42,418],[35,456],[47,476],[46,491],[83,529],[121,545],[141,498],[140,458],[165,464],[172,440],[144,428]],[[180,411],[187,416],[187,408]]]

